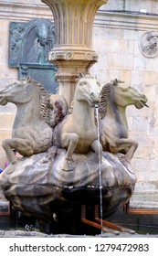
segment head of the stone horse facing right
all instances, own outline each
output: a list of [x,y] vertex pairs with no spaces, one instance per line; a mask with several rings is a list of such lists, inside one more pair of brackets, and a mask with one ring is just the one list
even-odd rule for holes
[[111,94],[112,100],[120,107],[134,105],[137,109],[142,109],[147,106],[146,96],[123,81],[117,79],[111,81]]

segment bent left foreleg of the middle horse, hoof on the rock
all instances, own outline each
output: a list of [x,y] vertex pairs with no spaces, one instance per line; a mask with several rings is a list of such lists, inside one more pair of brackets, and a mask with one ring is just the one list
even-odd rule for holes
[[79,135],[77,133],[63,133],[61,140],[62,146],[68,148],[62,169],[64,171],[72,171],[76,166],[72,160],[72,155],[79,142]]

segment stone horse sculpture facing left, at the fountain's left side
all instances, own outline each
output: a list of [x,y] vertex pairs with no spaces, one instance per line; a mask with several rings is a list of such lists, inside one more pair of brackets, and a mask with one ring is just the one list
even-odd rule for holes
[[0,91],[0,104],[7,102],[17,107],[12,138],[3,141],[7,162],[16,163],[13,149],[26,156],[47,151],[52,145],[53,128],[67,113],[66,101],[48,94],[40,83],[28,77]]

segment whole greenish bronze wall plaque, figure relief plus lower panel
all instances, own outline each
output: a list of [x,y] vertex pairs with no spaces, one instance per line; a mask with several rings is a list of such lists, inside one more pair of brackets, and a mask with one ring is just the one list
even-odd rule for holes
[[[9,28],[9,67],[18,68],[18,78],[30,75],[50,93],[56,93],[58,71],[49,63],[48,53],[55,45],[54,23],[35,18],[28,23],[11,22]],[[47,78],[47,79],[46,79]]]

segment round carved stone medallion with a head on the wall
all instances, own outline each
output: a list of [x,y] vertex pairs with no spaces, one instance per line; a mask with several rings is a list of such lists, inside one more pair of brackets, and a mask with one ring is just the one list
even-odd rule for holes
[[158,32],[144,33],[140,40],[140,50],[146,58],[158,56]]

